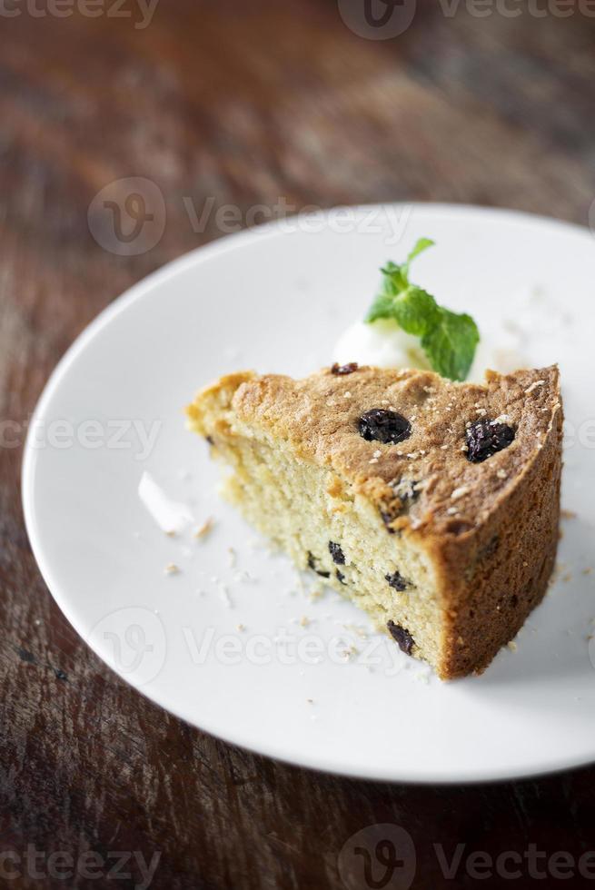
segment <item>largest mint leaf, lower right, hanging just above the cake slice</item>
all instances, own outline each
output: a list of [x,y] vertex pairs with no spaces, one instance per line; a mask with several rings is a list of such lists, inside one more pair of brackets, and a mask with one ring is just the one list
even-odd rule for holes
[[464,381],[479,341],[480,332],[471,315],[439,307],[439,321],[422,336],[421,348],[434,371],[452,381]]

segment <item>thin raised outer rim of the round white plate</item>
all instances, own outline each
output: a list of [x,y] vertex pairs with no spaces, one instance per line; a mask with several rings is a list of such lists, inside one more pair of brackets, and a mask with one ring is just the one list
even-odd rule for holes
[[[441,218],[448,217],[449,215],[463,216],[468,213],[479,213],[481,216],[492,218],[508,217],[511,221],[516,221],[519,223],[537,223],[565,228],[569,232],[574,232],[580,235],[587,235],[593,238],[593,232],[590,230],[590,227],[588,225],[571,223],[566,220],[560,220],[556,217],[546,216],[543,214],[528,213],[521,210],[508,209],[503,207],[490,207],[482,204],[434,202],[425,203],[417,201],[367,203],[331,207],[323,211],[317,211],[314,215],[317,219],[320,218],[322,221],[324,221],[324,223],[327,223],[331,214],[336,213],[337,210],[344,211],[345,209],[348,209],[353,213],[363,214],[380,209],[383,213],[387,213],[389,211],[403,209],[406,207],[412,208],[413,211],[419,209],[423,213],[440,216]],[[134,305],[135,302],[140,302],[141,300],[143,300],[144,297],[150,294],[150,292],[154,291],[156,287],[159,287],[164,282],[173,279],[177,274],[184,272],[185,270],[190,269],[195,265],[200,265],[203,262],[209,262],[213,257],[233,251],[237,247],[243,246],[244,244],[249,244],[251,242],[260,242],[275,237],[291,237],[295,232],[299,233],[299,230],[283,232],[282,223],[286,223],[287,220],[290,219],[299,218],[300,215],[301,214],[293,214],[293,216],[281,221],[271,221],[268,223],[263,223],[261,225],[243,229],[241,232],[233,232],[231,234],[223,235],[222,237],[216,238],[213,242],[208,242],[207,244],[195,247],[193,248],[193,250],[183,253],[179,257],[166,262],[163,266],[154,270],[154,272],[150,272],[143,279],[135,282],[122,294],[115,297],[112,302],[108,303],[108,305],[101,312],[99,312],[91,321],[89,321],[89,323],[84,327],[83,331],[81,331],[75,337],[74,341],[70,344],[66,351],[64,351],[64,354],[56,363],[54,370],[50,373],[47,381],[45,382],[44,388],[35,404],[35,410],[31,415],[30,423],[28,425],[27,434],[25,437],[25,445],[21,464],[21,499],[25,519],[25,530],[33,555],[35,557],[37,568],[39,569],[40,574],[44,579],[45,586],[47,587],[48,592],[55,600],[56,605],[58,606],[58,608],[60,608],[66,620],[70,623],[72,628],[74,628],[77,636],[82,638],[84,644],[87,647],[91,648],[97,658],[102,661],[104,666],[107,667],[110,671],[113,671],[115,676],[123,680],[127,686],[133,687],[135,692],[140,693],[143,697],[153,702],[157,707],[163,707],[165,711],[183,720],[183,722],[186,723],[188,726],[197,728],[201,732],[208,733],[209,735],[212,735],[213,737],[227,744],[234,745],[257,756],[268,756],[280,763],[289,766],[297,766],[299,768],[308,769],[314,772],[322,772],[335,776],[348,776],[350,778],[366,781],[382,781],[387,783],[400,783],[406,785],[440,784],[444,786],[498,783],[521,778],[550,776],[555,773],[576,769],[580,766],[587,766],[593,763],[595,761],[595,747],[590,756],[577,755],[570,758],[558,757],[557,759],[554,757],[550,757],[549,759],[545,759],[543,761],[537,760],[531,767],[513,766],[511,768],[507,768],[506,766],[500,766],[498,768],[494,768],[493,766],[484,766],[481,770],[479,770],[477,767],[471,768],[469,770],[459,768],[456,773],[452,773],[446,776],[443,772],[440,771],[440,769],[434,770],[433,772],[431,769],[424,769],[421,771],[420,768],[416,766],[414,768],[406,768],[403,770],[400,769],[398,765],[396,765],[395,769],[392,770],[391,775],[387,775],[385,769],[380,768],[378,770],[375,770],[373,764],[370,765],[370,768],[367,769],[366,772],[362,772],[362,770],[359,768],[350,769],[347,766],[337,765],[332,762],[327,762],[323,759],[321,760],[320,758],[315,759],[309,755],[303,756],[301,759],[299,759],[295,754],[293,754],[292,756],[283,754],[283,752],[277,750],[277,747],[275,747],[275,745],[267,745],[266,742],[263,745],[259,745],[258,747],[253,747],[252,745],[247,745],[245,742],[238,740],[235,732],[226,732],[225,734],[222,734],[222,732],[218,731],[217,729],[213,729],[212,727],[199,725],[192,718],[185,715],[179,708],[172,707],[172,705],[164,703],[163,697],[161,697],[158,693],[152,694],[150,689],[145,689],[143,687],[135,685],[134,682],[131,682],[131,679],[129,677],[124,676],[123,673],[120,673],[118,670],[116,670],[105,661],[104,656],[102,655],[101,651],[98,650],[98,647],[94,646],[94,643],[86,638],[82,630],[79,629],[79,627],[77,626],[77,619],[74,618],[73,615],[74,610],[70,608],[67,602],[67,598],[64,598],[64,595],[60,590],[60,585],[53,577],[54,573],[50,565],[51,560],[47,559],[45,556],[42,534],[39,532],[35,519],[35,460],[37,452],[32,446],[32,440],[34,437],[33,430],[35,430],[37,423],[45,415],[47,406],[53,400],[55,393],[58,391],[61,383],[67,376],[68,371],[70,370],[70,367],[74,363],[74,361],[76,361],[78,356],[84,351],[87,344],[93,341],[94,337],[99,334],[100,331],[103,331],[104,328],[110,325],[115,319],[117,319],[117,317],[122,312],[127,310],[130,306]],[[312,234],[312,237],[315,237],[315,234]]]

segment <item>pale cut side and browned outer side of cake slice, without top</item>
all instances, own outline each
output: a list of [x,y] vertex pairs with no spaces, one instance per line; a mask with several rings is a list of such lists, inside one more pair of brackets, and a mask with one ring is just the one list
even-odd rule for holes
[[[435,377],[425,372],[420,376],[430,381]],[[298,568],[318,571],[326,583],[392,632],[404,651],[428,661],[440,677],[481,672],[540,602],[553,568],[562,421],[557,370],[526,372],[521,378],[525,391],[537,383],[542,390],[547,381],[549,427],[513,484],[493,500],[486,518],[452,533],[432,529],[431,523],[416,527],[404,517],[398,533],[390,536],[370,480],[346,478],[320,456],[312,460],[312,453],[303,453],[295,441],[285,441],[282,448],[276,421],[267,429],[262,413],[257,418],[252,408],[246,410],[251,399],[260,398],[260,381],[273,377],[261,378],[253,371],[226,375],[188,408],[191,429],[207,438],[214,456],[233,468],[227,496],[289,552]],[[487,385],[494,380],[498,384],[504,378],[489,373]],[[292,488],[290,480],[298,468],[299,486]],[[250,486],[253,490],[246,497]],[[291,519],[295,491],[304,487],[309,494],[318,492],[310,502],[304,500],[301,513],[298,510],[307,521],[301,529],[296,523],[283,525],[283,509]],[[360,537],[363,532],[363,541],[358,541],[358,532]],[[328,549],[323,552],[323,544],[336,544],[345,552],[335,550],[333,556]],[[376,560],[382,563],[380,575]]]

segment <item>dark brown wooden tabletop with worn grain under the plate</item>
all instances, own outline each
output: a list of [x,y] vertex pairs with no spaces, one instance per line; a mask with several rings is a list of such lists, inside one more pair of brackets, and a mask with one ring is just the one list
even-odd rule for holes
[[[370,40],[332,0],[160,0],[150,23],[133,0],[112,4],[91,17],[82,0],[5,0],[0,15],[0,886],[146,885],[141,854],[159,855],[152,886],[172,890],[409,886],[398,869],[382,884],[378,864],[372,883],[356,878],[363,855],[344,854],[340,875],[350,836],[385,823],[412,837],[422,890],[510,885],[502,866],[486,881],[465,865],[478,851],[578,859],[595,848],[593,768],[491,786],[370,784],[252,756],[169,717],[62,617],[19,483],[30,413],[74,337],[255,205],[455,201],[587,223],[595,19],[578,5],[554,15],[545,0],[516,17],[418,2],[402,35]],[[166,222],[150,249],[117,255],[87,213],[131,176],[156,183]],[[237,223],[217,217],[226,204]],[[189,208],[205,206],[198,224]],[[402,731],[415,731],[406,714]],[[448,859],[464,845],[455,878],[434,845]],[[64,876],[69,857],[79,873]],[[538,880],[522,875],[512,883]]]

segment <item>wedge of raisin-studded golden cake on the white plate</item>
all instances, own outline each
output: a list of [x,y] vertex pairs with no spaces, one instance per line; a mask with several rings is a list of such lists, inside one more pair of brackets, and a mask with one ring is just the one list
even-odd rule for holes
[[556,367],[223,377],[188,409],[229,499],[440,677],[481,672],[543,597],[560,510]]

